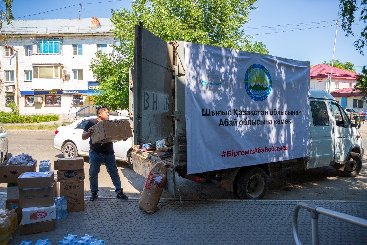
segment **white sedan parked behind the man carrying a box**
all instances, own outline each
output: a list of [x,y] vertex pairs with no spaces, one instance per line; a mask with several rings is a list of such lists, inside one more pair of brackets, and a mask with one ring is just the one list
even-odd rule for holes
[[[89,138],[87,140],[81,139],[81,134],[87,122],[97,116],[88,116],[81,118],[76,122],[67,126],[60,126],[55,131],[54,147],[62,152],[64,158],[76,158],[79,156],[89,156]],[[109,120],[128,120],[127,116],[109,116]],[[131,138],[126,141],[118,141],[113,143],[116,160],[128,162],[131,165]]]

